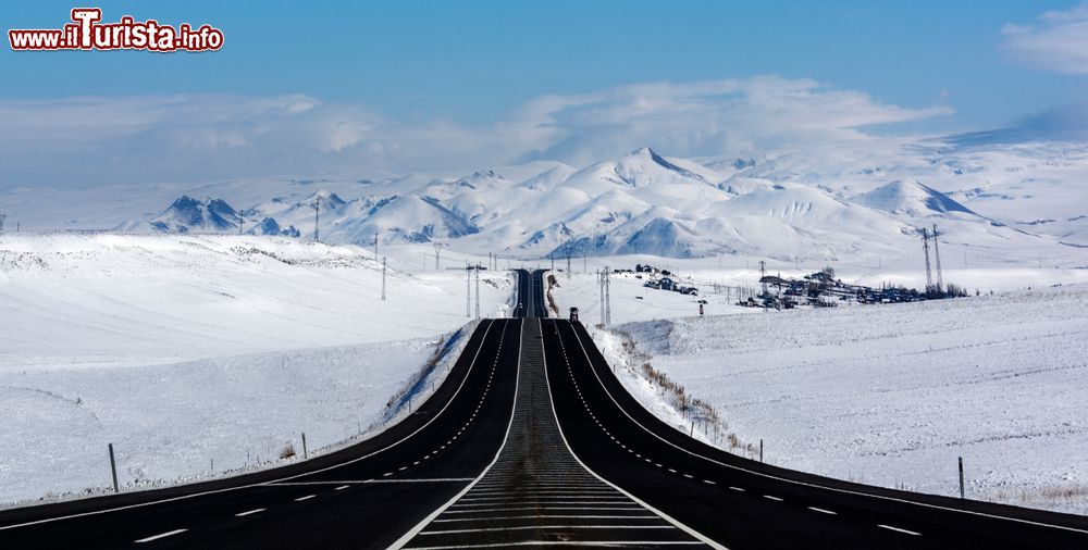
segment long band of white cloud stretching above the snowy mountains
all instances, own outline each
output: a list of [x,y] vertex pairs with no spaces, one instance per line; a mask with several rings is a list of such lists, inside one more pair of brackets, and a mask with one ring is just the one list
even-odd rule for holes
[[0,100],[0,185],[372,177],[530,158],[584,164],[644,145],[675,155],[743,153],[863,139],[866,126],[950,112],[776,76],[543,96],[487,125],[401,122],[308,96]]

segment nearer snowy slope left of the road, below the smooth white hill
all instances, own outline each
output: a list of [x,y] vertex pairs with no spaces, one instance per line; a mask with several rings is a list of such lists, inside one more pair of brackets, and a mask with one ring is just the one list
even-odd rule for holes
[[[410,340],[144,367],[0,373],[0,500],[123,490],[267,467],[359,436],[434,351]],[[375,361],[380,358],[380,361]]]

